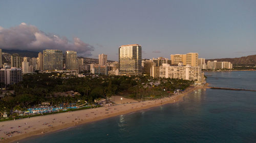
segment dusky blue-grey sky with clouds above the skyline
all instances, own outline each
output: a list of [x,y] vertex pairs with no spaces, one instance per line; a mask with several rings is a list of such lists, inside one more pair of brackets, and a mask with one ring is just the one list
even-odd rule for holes
[[140,44],[142,58],[256,54],[256,1],[0,1],[0,48],[108,55]]

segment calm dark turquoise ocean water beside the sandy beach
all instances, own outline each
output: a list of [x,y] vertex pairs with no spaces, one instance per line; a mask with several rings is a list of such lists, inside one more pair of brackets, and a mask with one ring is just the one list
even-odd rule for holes
[[[214,86],[256,89],[256,72],[206,75]],[[256,92],[206,89],[184,99],[19,142],[256,142]]]

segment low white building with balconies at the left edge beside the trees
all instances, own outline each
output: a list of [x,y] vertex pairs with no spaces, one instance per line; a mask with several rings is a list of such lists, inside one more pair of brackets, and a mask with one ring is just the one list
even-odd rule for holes
[[20,68],[1,68],[1,85],[16,84],[23,80],[22,69]]

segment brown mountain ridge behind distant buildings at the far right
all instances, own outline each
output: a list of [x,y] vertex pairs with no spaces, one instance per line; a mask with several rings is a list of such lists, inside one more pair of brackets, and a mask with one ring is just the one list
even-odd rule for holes
[[241,58],[209,59],[206,61],[230,62],[232,64],[256,65],[256,54],[242,56]]

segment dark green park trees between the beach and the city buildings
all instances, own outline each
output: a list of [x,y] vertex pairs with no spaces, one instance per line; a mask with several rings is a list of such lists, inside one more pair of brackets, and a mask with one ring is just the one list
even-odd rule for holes
[[[95,99],[108,99],[121,95],[137,100],[147,100],[170,96],[175,90],[184,90],[193,81],[150,76],[98,76],[75,77],[61,73],[26,74],[23,81],[9,85],[14,91],[0,100],[0,114],[11,110],[25,110],[42,102],[53,106],[63,103],[76,103],[79,100],[92,104]],[[58,92],[74,91],[75,96],[54,96]],[[67,105],[67,104],[66,104]]]

